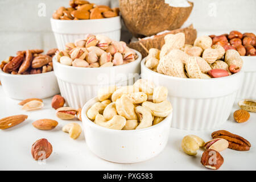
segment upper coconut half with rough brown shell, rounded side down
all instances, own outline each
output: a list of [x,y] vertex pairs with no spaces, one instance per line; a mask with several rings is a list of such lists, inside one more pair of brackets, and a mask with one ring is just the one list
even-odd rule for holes
[[180,28],[193,9],[172,7],[164,0],[119,0],[119,9],[127,29],[136,38]]

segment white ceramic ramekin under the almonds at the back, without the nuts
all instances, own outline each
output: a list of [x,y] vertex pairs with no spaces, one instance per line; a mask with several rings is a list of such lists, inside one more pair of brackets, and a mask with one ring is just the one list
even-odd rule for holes
[[55,35],[57,48],[65,49],[65,44],[84,39],[86,34],[102,34],[112,40],[119,41],[121,37],[121,18],[59,20],[51,18],[52,31]]

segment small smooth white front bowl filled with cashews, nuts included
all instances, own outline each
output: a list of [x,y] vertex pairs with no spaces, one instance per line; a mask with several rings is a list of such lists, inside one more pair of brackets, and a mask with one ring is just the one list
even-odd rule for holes
[[147,80],[99,89],[82,108],[89,149],[114,163],[137,163],[158,155],[168,142],[172,120],[167,94],[167,88]]

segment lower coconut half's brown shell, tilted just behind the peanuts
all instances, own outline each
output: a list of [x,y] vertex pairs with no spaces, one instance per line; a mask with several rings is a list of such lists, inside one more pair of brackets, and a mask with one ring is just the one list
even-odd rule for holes
[[146,57],[148,55],[147,50],[151,48],[157,48],[160,50],[162,48],[162,46],[165,43],[164,36],[166,36],[167,34],[177,34],[179,32],[183,32],[185,34],[185,44],[193,45],[193,43],[196,40],[197,32],[193,28],[193,25],[191,24],[191,26],[187,28],[172,30],[162,35],[155,35],[153,38],[150,38],[150,39],[147,38],[147,39],[141,39],[137,42],[132,42],[128,44],[128,47],[141,52],[142,57]]

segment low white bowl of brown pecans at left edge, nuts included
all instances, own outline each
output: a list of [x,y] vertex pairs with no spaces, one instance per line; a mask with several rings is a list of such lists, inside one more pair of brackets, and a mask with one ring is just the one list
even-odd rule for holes
[[18,51],[0,64],[0,80],[6,96],[17,100],[47,98],[59,93],[53,72],[52,56],[57,49],[45,55],[42,49]]

